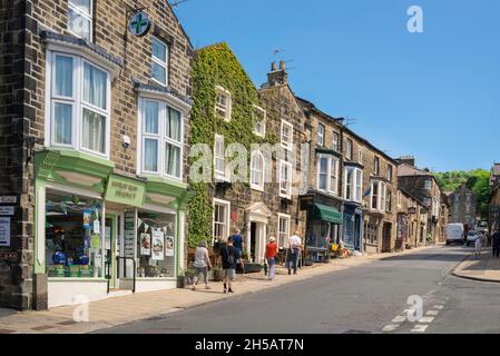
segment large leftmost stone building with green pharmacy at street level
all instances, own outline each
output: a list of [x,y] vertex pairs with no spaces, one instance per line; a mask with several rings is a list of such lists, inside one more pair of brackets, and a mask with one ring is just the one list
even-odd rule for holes
[[193,48],[167,1],[135,6],[2,2],[0,306],[176,287]]

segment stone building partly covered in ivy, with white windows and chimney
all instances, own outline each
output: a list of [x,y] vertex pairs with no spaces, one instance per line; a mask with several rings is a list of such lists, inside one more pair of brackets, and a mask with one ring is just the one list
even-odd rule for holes
[[[257,91],[226,43],[196,52],[193,86],[192,149],[206,144],[214,169],[189,205],[189,226],[199,235],[190,238],[210,239],[216,247],[239,229],[245,259],[262,264],[269,236],[284,248],[291,233],[305,231],[297,199],[301,161],[295,159],[296,147],[305,141],[303,112],[283,63],[280,69],[273,63],[268,82]],[[239,177],[232,168],[235,144],[241,145],[237,150],[247,170]],[[195,217],[206,211],[213,218],[204,227]]]

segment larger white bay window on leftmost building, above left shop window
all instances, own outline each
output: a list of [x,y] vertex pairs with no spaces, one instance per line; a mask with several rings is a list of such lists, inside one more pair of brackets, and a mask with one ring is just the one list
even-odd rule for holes
[[86,59],[49,52],[49,142],[109,158],[110,75]]

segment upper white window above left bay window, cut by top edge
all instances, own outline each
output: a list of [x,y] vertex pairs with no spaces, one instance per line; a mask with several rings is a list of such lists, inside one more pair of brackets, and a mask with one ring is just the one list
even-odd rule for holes
[[89,42],[92,41],[92,0],[68,1],[68,30]]

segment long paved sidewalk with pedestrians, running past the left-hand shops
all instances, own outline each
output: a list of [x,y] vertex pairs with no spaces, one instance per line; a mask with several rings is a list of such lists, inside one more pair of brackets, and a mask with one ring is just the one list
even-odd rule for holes
[[297,276],[288,276],[284,268],[278,268],[276,280],[273,283],[269,283],[264,274],[238,276],[234,284],[236,291],[234,295],[223,294],[222,284],[212,283],[212,290],[205,290],[202,286],[197,291],[171,289],[91,301],[88,305],[89,322],[87,323],[75,322],[73,313],[78,312],[76,308],[81,310],[81,307],[77,306],[58,307],[48,312],[24,313],[0,309],[0,334],[90,333],[138,319],[154,319],[165,314],[180,312],[207,303],[258,293],[268,288],[277,288],[288,283],[296,283],[314,276],[336,273],[383,258],[412,254],[431,247],[435,246],[421,247],[404,253],[334,259],[330,264],[305,267],[300,270]]

